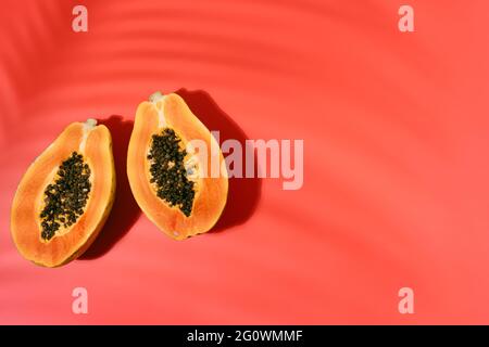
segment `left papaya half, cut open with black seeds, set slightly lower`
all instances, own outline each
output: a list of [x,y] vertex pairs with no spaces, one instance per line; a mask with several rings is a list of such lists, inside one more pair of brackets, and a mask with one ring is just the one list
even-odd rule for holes
[[109,129],[73,123],[29,166],[15,193],[11,232],[21,255],[45,267],[76,259],[112,208],[115,169]]

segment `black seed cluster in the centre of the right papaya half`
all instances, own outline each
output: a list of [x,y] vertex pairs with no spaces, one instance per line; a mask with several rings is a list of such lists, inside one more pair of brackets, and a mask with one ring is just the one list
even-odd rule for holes
[[179,145],[175,131],[165,128],[162,134],[153,134],[148,159],[151,163],[151,183],[156,195],[170,206],[178,206],[185,216],[190,216],[196,192],[193,182],[187,179],[184,158],[187,151]]

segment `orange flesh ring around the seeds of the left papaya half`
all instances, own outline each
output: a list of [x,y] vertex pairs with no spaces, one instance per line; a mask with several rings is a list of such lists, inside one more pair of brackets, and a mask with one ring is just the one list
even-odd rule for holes
[[[91,190],[84,214],[51,240],[40,234],[43,191],[59,165],[78,152],[89,165]],[[40,154],[24,174],[11,210],[11,233],[20,254],[42,267],[60,267],[79,257],[100,233],[115,195],[115,168],[109,129],[73,123]]]

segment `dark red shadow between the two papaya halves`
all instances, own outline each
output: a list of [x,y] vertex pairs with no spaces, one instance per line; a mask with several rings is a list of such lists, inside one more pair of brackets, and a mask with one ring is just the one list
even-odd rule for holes
[[141,210],[130,191],[127,179],[127,147],[134,121],[125,120],[122,116],[112,115],[106,119],[99,119],[99,124],[109,128],[112,136],[112,151],[114,154],[116,189],[112,210],[103,229],[92,245],[79,259],[95,259],[108,253],[134,226]]

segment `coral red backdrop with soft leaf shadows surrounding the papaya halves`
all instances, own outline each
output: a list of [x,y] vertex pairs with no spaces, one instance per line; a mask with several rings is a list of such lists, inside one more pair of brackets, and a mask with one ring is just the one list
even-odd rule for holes
[[[487,1],[80,3],[75,34],[75,1],[2,2],[0,323],[489,323]],[[124,169],[155,90],[227,138],[303,139],[303,188],[233,181],[216,231],[170,240]],[[88,117],[114,137],[113,213],[83,259],[36,267],[10,236],[15,188]]]

